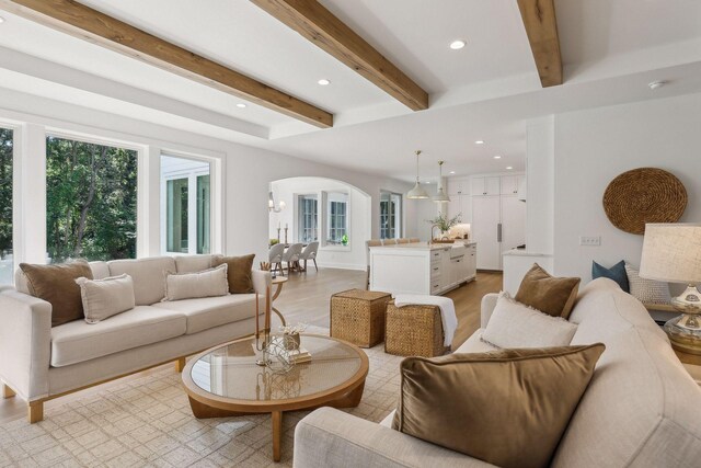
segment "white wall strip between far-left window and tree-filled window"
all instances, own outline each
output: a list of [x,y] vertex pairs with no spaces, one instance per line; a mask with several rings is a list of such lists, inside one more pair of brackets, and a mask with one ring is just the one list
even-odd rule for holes
[[46,263],[46,129],[26,124],[19,130],[14,158],[14,259]]

